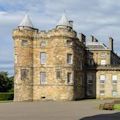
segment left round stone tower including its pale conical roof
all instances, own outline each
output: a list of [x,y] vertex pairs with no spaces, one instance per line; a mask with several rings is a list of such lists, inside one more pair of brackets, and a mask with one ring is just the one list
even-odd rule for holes
[[15,78],[14,101],[33,99],[33,39],[37,31],[28,15],[13,31]]

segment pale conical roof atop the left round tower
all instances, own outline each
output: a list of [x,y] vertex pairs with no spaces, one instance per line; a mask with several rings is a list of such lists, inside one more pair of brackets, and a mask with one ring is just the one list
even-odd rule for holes
[[22,22],[19,24],[19,26],[25,26],[25,27],[31,27],[33,28],[33,24],[30,20],[29,15],[25,15],[25,17],[23,18]]

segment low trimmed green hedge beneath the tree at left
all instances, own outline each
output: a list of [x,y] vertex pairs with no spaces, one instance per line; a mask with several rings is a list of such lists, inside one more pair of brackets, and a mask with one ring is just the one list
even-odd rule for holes
[[12,92],[2,92],[0,93],[0,101],[13,100],[14,93]]

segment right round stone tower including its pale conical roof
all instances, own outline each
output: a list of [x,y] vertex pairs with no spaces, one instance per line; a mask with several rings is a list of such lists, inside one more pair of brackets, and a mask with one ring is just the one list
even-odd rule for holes
[[[48,34],[51,39],[49,60],[53,64],[51,91],[45,93],[45,97],[53,100],[74,100],[74,40],[76,32],[72,28],[72,22],[65,14],[62,15],[56,28]],[[48,53],[49,54],[49,53]],[[51,63],[49,63],[51,64]],[[49,80],[49,78],[48,78]],[[49,83],[49,81],[48,81]],[[48,89],[46,87],[46,89]],[[51,93],[50,93],[51,92]],[[50,96],[50,97],[49,97]]]

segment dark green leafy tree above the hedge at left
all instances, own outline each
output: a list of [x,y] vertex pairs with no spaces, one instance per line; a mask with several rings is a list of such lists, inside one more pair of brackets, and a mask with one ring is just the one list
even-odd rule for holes
[[8,92],[13,88],[13,77],[8,77],[7,72],[0,72],[0,92]]

